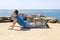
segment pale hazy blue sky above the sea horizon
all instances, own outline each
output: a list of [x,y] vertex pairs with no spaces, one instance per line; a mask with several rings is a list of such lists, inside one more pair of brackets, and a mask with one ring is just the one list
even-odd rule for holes
[[0,0],[0,9],[60,9],[60,0]]

